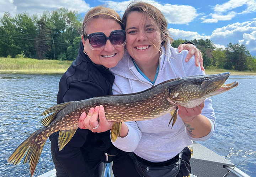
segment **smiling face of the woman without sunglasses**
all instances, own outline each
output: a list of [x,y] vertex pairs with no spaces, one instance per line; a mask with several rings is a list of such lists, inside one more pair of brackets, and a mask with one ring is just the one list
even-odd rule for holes
[[126,50],[137,64],[158,63],[160,29],[141,12],[131,12],[126,22]]

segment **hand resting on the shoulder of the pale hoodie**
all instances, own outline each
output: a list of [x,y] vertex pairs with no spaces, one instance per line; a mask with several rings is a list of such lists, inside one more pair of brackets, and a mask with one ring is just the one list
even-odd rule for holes
[[190,58],[194,55],[196,66],[199,66],[200,62],[201,69],[204,71],[202,53],[198,50],[196,46],[194,46],[193,44],[181,44],[178,46],[178,52],[181,52],[182,50],[188,50],[188,55],[185,59],[186,62],[188,62]]

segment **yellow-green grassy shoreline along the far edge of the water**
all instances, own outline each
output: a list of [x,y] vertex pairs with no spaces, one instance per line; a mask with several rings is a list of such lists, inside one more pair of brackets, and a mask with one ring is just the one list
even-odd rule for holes
[[[73,61],[0,57],[0,74],[63,74]],[[206,74],[230,72],[231,75],[256,75],[256,72],[227,69],[206,69]]]

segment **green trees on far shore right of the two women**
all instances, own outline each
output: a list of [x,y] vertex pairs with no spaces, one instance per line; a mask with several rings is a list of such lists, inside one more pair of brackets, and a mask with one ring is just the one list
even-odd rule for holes
[[[188,40],[177,39],[172,43],[178,47]],[[216,48],[212,40],[192,40],[193,44],[202,52],[204,67],[207,69],[234,69],[239,71],[256,71],[256,57],[252,56],[243,44],[229,43],[225,49]]]

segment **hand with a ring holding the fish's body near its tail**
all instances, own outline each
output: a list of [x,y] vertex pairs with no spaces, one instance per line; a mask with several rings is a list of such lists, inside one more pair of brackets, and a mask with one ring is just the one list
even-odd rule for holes
[[78,121],[78,126],[80,129],[88,129],[97,133],[110,130],[112,125],[113,121],[107,121],[105,110],[102,105],[91,108],[87,116],[86,113],[82,113]]

